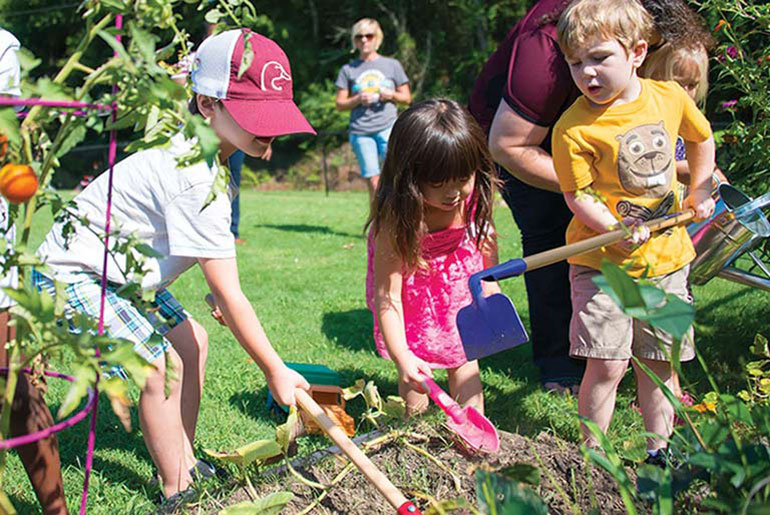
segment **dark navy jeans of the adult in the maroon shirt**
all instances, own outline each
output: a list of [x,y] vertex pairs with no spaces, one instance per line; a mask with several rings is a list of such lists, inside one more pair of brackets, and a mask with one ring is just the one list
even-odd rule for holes
[[[572,212],[558,193],[535,188],[498,166],[503,199],[519,230],[524,256],[564,245]],[[569,265],[566,261],[524,274],[529,301],[532,357],[540,380],[579,381],[585,363],[569,357],[569,322],[572,317]]]

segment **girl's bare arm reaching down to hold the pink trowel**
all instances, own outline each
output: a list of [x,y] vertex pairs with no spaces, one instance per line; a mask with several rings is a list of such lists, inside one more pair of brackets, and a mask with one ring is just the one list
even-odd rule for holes
[[374,314],[402,381],[419,386],[419,374],[432,376],[430,367],[409,350],[404,327],[404,307],[401,302],[402,262],[390,242],[380,231],[375,239],[374,253]]

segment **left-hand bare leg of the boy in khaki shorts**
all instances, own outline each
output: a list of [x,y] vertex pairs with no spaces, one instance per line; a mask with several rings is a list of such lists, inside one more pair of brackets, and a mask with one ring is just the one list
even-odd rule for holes
[[[586,360],[586,371],[578,394],[578,414],[596,422],[602,432],[606,432],[610,427],[618,385],[627,368],[627,359],[589,358]],[[591,435],[588,428],[581,424],[581,429],[586,445],[589,447],[598,445],[599,442]]]

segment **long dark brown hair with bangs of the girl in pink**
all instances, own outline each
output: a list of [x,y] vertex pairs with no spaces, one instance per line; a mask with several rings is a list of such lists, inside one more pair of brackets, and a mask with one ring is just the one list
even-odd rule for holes
[[388,153],[365,229],[387,231],[407,270],[424,266],[420,244],[427,229],[421,184],[468,179],[476,183],[466,210],[467,230],[481,248],[489,237],[494,188],[494,161],[484,131],[459,103],[447,98],[427,100],[396,120]]

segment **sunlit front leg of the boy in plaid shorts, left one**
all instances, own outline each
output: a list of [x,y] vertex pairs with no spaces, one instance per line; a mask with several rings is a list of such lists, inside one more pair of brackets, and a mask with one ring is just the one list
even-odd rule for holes
[[[173,348],[168,355],[179,377],[184,377],[182,360]],[[139,423],[147,450],[158,467],[166,497],[186,489],[192,482],[190,467],[195,464],[192,446],[182,421],[182,383],[171,383],[171,395],[164,391],[165,360],[155,360],[157,368],[147,378],[139,398]]]

